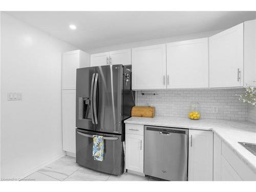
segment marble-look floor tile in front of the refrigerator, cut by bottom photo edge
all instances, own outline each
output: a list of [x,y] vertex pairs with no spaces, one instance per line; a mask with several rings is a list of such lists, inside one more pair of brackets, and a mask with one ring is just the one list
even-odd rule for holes
[[109,174],[96,172],[95,170],[81,167],[65,181],[106,181],[110,177]]

